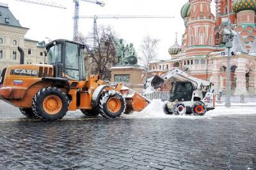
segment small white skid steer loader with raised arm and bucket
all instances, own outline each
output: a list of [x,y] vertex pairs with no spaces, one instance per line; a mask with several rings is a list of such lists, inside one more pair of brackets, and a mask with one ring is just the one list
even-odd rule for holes
[[172,69],[163,76],[153,76],[143,85],[144,93],[156,91],[161,84],[175,78],[181,81],[172,81],[170,99],[163,106],[166,114],[191,114],[203,116],[209,110],[214,110],[215,96],[213,84],[200,80],[177,68]]

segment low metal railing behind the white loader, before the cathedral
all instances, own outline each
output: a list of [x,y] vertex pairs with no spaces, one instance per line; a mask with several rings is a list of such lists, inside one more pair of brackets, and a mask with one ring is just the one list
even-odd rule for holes
[[[153,92],[151,94],[145,94],[147,99],[161,99],[162,101],[168,101],[170,98],[170,92]],[[225,102],[226,95],[216,94],[216,102]],[[231,95],[230,101],[232,103],[251,103],[256,102],[256,95]]]

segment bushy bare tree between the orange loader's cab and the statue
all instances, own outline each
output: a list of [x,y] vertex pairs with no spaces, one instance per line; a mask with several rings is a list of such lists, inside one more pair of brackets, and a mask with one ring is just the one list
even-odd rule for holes
[[93,34],[87,37],[80,34],[77,40],[86,45],[86,72],[88,74],[100,74],[102,80],[111,79],[109,68],[117,63],[115,43],[113,43],[112,37],[116,37],[113,29],[102,26],[97,30],[96,46],[93,46]]

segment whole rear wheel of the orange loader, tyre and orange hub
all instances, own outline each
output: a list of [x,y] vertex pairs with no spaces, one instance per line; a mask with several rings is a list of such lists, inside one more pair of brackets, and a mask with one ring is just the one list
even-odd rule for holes
[[32,110],[44,121],[60,120],[68,111],[68,97],[55,87],[44,88],[33,98]]

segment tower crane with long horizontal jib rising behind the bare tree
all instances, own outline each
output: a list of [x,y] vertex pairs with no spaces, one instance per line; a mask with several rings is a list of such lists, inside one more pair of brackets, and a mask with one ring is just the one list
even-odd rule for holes
[[129,19],[129,18],[174,18],[168,15],[84,15],[79,18],[93,18],[93,47],[97,46],[97,19]]

